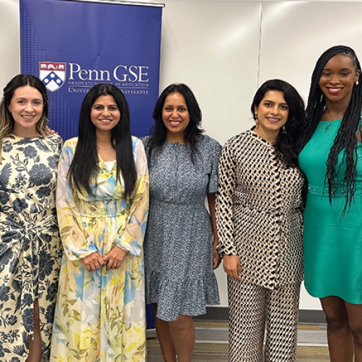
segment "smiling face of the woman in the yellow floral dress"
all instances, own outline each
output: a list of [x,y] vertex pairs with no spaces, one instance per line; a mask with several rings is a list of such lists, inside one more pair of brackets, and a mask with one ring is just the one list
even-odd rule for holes
[[113,96],[99,96],[90,110],[90,119],[96,127],[96,132],[110,133],[121,119],[121,111]]

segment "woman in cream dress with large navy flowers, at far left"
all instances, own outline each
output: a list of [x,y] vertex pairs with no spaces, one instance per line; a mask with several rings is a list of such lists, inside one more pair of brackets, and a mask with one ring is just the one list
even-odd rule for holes
[[19,74],[0,105],[0,361],[48,360],[61,243],[55,211],[61,138],[46,135],[43,83]]

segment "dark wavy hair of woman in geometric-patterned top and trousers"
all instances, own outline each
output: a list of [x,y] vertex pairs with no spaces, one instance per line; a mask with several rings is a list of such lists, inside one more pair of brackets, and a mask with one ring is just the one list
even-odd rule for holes
[[301,119],[304,114],[304,101],[296,89],[286,81],[282,81],[281,79],[270,79],[260,86],[252,100],[250,109],[254,120],[257,119],[255,107],[259,107],[261,100],[270,90],[282,92],[289,108],[288,120],[285,123],[283,130],[280,130],[278,137],[276,137],[274,148],[287,166],[295,167],[298,165],[298,158],[294,146],[296,137],[299,135]]

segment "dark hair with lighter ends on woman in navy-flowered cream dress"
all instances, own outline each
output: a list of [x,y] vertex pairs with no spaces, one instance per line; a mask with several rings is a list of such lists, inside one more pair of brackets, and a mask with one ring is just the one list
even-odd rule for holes
[[14,128],[14,119],[12,114],[8,110],[12,97],[14,97],[14,92],[17,88],[30,86],[35,88],[43,97],[43,114],[37,122],[37,132],[42,136],[45,136],[45,129],[48,123],[48,94],[46,92],[46,86],[37,78],[31,74],[18,74],[12,78],[9,83],[3,88],[3,99],[0,104],[0,141],[3,137],[8,136]]

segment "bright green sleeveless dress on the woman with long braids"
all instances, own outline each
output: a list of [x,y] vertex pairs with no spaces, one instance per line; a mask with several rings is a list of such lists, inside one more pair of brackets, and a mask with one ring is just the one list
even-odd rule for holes
[[[339,296],[354,304],[362,303],[362,145],[357,145],[356,191],[350,209],[345,206],[343,185],[334,192],[332,205],[325,179],[326,162],[341,125],[321,121],[299,154],[301,170],[308,179],[304,210],[305,288],[312,296]],[[338,180],[343,181],[345,163],[339,155]],[[341,184],[341,182],[340,182]]]

